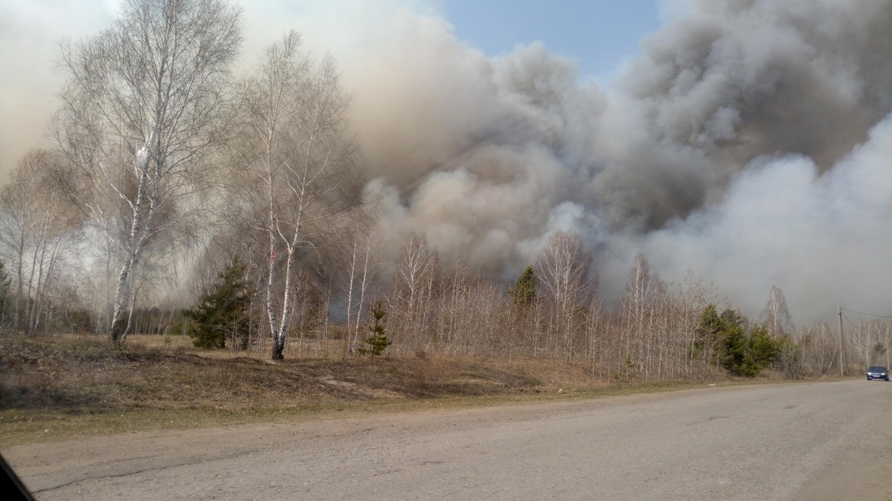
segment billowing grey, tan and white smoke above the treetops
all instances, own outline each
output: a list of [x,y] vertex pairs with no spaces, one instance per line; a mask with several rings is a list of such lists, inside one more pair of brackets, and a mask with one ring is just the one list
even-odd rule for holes
[[435,2],[307,4],[246,4],[246,61],[291,28],[335,56],[385,259],[415,231],[512,279],[571,229],[608,300],[644,252],[750,316],[772,285],[797,321],[892,314],[892,1],[679,2],[611,82],[487,57]]

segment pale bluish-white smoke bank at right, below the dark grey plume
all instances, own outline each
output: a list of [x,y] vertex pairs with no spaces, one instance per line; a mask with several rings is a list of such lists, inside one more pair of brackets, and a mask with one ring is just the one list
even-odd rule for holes
[[715,280],[757,312],[778,284],[801,319],[836,305],[883,314],[892,298],[892,116],[829,171],[807,157],[760,158],[739,173],[721,204],[639,235],[663,270]]

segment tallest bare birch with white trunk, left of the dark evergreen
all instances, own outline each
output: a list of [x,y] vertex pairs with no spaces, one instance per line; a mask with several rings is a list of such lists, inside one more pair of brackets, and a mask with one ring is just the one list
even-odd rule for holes
[[[186,227],[219,165],[240,12],[221,0],[129,0],[110,29],[62,45],[68,74],[54,137],[77,171],[70,194],[120,251],[111,341],[126,339],[145,250]],[[112,233],[113,232],[113,233]]]

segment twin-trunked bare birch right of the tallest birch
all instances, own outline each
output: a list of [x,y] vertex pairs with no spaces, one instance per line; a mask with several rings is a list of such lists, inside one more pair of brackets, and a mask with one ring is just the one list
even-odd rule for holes
[[287,33],[263,53],[245,85],[246,172],[265,207],[266,308],[272,357],[284,357],[299,291],[300,259],[331,240],[362,202],[358,148],[349,131],[350,97],[335,62],[313,62]]

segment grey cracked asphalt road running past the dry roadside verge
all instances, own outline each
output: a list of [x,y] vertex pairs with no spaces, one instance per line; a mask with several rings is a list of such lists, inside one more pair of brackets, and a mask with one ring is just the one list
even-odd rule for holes
[[146,432],[11,448],[38,499],[892,499],[892,383]]

